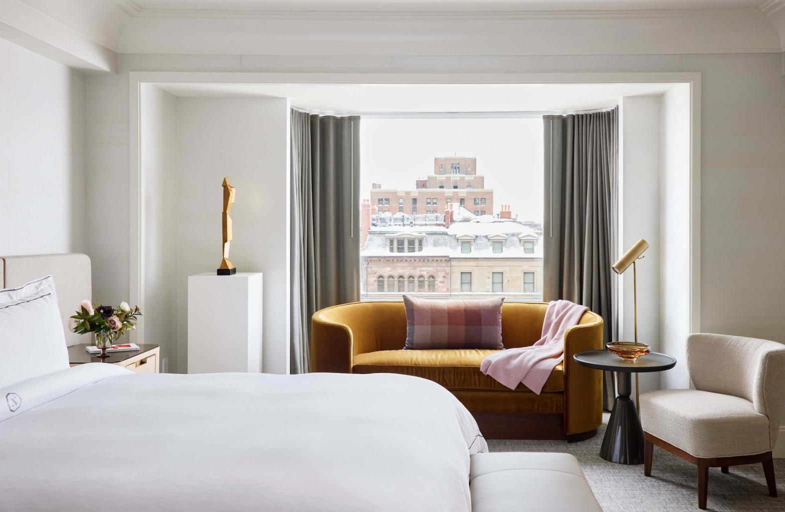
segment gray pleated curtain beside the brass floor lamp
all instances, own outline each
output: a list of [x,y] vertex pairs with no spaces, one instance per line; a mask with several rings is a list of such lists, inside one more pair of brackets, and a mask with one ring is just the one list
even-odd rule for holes
[[[547,115],[543,300],[589,307],[605,322],[604,343],[616,339],[618,110]],[[615,399],[604,372],[603,405]]]

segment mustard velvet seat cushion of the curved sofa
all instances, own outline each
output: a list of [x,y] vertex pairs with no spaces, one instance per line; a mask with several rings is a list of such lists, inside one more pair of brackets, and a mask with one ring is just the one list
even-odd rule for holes
[[[436,350],[378,350],[356,354],[353,373],[403,373],[433,380],[448,390],[506,390],[496,379],[480,372],[480,364],[491,354],[501,350],[436,349]],[[515,389],[531,393],[519,384]],[[559,363],[550,373],[544,393],[564,391],[564,364]]]

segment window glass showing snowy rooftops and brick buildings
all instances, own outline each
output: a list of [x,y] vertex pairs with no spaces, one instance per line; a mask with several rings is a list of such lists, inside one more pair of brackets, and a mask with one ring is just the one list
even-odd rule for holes
[[543,120],[467,116],[363,119],[360,300],[541,300]]

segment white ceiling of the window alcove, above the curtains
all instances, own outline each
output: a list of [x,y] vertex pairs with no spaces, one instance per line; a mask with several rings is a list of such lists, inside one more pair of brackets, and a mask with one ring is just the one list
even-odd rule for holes
[[626,84],[156,84],[175,96],[267,96],[323,112],[581,111],[623,96],[659,95],[666,83]]

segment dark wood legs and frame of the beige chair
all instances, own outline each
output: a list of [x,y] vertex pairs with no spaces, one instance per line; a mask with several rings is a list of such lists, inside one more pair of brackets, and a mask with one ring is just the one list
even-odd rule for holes
[[654,445],[666,449],[668,452],[673,453],[675,456],[685,459],[689,463],[693,463],[698,467],[698,508],[706,509],[706,501],[709,489],[709,468],[719,467],[722,473],[728,473],[730,466],[742,466],[744,464],[763,464],[763,473],[766,477],[766,485],[769,487],[769,496],[772,498],[777,497],[777,484],[774,477],[774,460],[772,459],[772,452],[758,453],[757,455],[745,455],[738,457],[714,457],[711,459],[701,459],[692,456],[681,448],[677,448],[670,443],[656,438],[648,432],[643,433],[644,448],[643,448],[643,474],[647,477],[652,476],[652,456],[654,454]]

